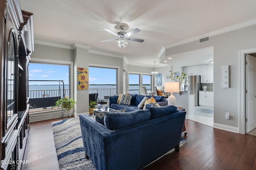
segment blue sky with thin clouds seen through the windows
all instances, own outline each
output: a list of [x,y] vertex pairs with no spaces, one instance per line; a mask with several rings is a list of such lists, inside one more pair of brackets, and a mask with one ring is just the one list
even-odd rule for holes
[[[54,64],[30,63],[28,67],[29,80],[64,80],[68,84],[69,66]],[[130,74],[129,84],[138,84],[139,76]],[[58,82],[29,82],[35,84],[59,84]],[[89,84],[116,84],[115,68],[89,67]],[[150,84],[150,76],[143,76],[143,84]]]

